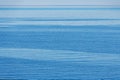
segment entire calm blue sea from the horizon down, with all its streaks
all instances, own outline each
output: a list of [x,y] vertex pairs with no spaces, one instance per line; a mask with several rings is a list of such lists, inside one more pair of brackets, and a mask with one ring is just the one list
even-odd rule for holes
[[120,80],[120,8],[71,7],[0,8],[0,79]]

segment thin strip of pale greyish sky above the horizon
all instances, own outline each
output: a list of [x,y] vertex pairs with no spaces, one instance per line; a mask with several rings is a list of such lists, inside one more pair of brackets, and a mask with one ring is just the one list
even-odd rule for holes
[[0,0],[0,5],[120,5],[120,0]]

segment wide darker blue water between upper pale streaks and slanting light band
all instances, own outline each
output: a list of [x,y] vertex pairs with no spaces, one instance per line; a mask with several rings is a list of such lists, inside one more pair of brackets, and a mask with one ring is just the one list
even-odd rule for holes
[[[116,26],[14,26],[0,32],[1,48],[34,48],[94,53],[120,53],[120,30]],[[18,31],[5,31],[5,30]],[[27,30],[33,31],[27,31]],[[41,30],[43,31],[34,31]],[[47,29],[68,31],[45,31]],[[69,30],[80,30],[70,31]],[[106,32],[101,32],[102,30]],[[25,31],[20,31],[25,30]],[[89,31],[91,30],[91,31]],[[93,31],[93,32],[92,32]],[[95,32],[94,32],[95,31]]]

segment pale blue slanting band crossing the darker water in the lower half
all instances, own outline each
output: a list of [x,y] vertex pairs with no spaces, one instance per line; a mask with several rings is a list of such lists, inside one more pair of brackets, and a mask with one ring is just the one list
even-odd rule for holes
[[[0,56],[32,60],[109,61],[119,60],[119,54],[88,53],[69,50],[0,48]],[[111,60],[111,61],[110,61]]]

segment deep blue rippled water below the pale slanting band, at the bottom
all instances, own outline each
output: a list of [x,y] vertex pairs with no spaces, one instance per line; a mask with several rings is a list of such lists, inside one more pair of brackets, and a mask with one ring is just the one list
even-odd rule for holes
[[74,79],[119,80],[120,65],[72,63],[63,61],[34,61],[0,58],[0,76],[5,79]]

